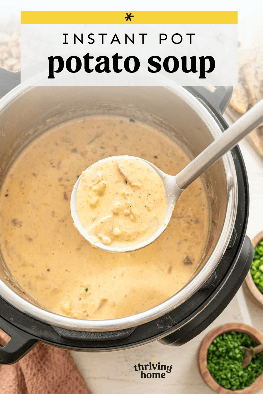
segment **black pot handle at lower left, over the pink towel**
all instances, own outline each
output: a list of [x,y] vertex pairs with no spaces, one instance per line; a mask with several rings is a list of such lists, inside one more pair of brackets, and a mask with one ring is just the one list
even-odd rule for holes
[[0,317],[0,327],[11,336],[5,346],[0,345],[0,364],[13,364],[34,348],[38,342],[34,336],[14,327],[2,317]]

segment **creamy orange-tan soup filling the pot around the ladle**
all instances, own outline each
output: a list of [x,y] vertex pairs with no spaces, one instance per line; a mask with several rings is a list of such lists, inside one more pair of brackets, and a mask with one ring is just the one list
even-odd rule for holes
[[159,130],[119,117],[87,117],[35,139],[18,156],[0,194],[0,249],[7,266],[45,308],[73,318],[121,318],[159,305],[198,266],[209,230],[197,179],[151,245],[132,253],[95,249],[73,225],[73,185],[94,162],[142,157],[176,175],[190,160]]

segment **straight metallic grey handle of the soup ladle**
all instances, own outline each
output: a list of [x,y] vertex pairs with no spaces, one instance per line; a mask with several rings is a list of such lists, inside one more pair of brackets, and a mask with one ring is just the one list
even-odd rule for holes
[[[241,116],[230,126],[222,136],[216,138],[203,152],[188,164],[176,177],[176,183],[181,189],[187,188],[205,170],[211,167],[229,149],[233,148],[251,130],[263,121],[263,100]],[[198,136],[197,136],[198,137]]]

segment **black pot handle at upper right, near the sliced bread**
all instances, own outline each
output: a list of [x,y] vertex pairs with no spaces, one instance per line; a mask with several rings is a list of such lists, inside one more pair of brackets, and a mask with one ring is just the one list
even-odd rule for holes
[[213,92],[204,86],[185,86],[185,89],[205,102],[215,114],[219,112],[220,115],[223,115],[233,93],[233,86],[216,86]]

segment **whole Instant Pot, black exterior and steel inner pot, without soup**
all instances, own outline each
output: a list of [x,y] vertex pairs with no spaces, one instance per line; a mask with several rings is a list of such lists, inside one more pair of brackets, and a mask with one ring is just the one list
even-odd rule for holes
[[[222,114],[232,94],[232,87],[217,87],[212,93],[177,85],[27,87],[20,84],[20,72],[4,69],[0,89],[0,187],[12,161],[30,141],[84,116],[118,115],[162,127],[195,157],[228,128]],[[208,327],[235,296],[254,257],[245,234],[249,193],[239,147],[210,167],[203,182],[211,228],[200,266],[177,294],[140,314],[95,321],[51,313],[23,292],[0,253],[0,328],[11,337],[0,347],[0,363],[17,361],[39,341],[96,352],[154,340],[181,346]]]

